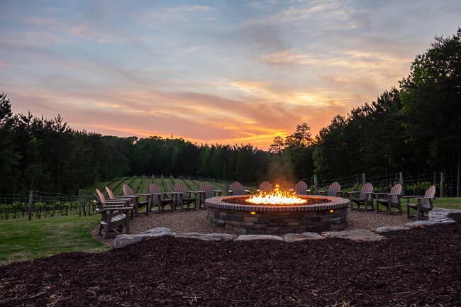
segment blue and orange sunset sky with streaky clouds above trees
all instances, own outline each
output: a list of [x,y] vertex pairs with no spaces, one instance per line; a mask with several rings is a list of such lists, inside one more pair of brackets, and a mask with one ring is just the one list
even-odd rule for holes
[[376,100],[461,1],[0,0],[14,112],[106,135],[251,143]]

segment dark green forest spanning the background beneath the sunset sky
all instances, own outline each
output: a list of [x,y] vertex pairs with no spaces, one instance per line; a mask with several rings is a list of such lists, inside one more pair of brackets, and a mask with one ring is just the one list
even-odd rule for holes
[[[121,138],[72,129],[61,116],[13,114],[0,96],[0,194],[29,189],[74,194],[96,181],[160,175],[256,183],[317,174],[333,180],[366,172],[459,177],[461,29],[436,36],[399,88],[335,116],[318,135],[300,123],[270,149],[182,138]],[[14,102],[14,101],[13,101]],[[457,182],[457,186],[459,186]],[[459,189],[459,188],[458,188]]]

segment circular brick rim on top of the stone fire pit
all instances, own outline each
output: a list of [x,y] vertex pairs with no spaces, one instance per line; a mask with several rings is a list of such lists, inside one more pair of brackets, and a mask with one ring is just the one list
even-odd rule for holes
[[255,212],[293,212],[293,211],[319,211],[319,210],[332,210],[346,208],[349,204],[349,199],[343,199],[342,197],[334,196],[322,196],[322,195],[309,195],[308,197],[317,199],[329,199],[328,203],[318,203],[314,205],[282,205],[282,206],[271,206],[271,205],[252,205],[250,203],[242,205],[238,203],[226,203],[224,199],[230,198],[247,198],[248,195],[229,195],[229,196],[218,196],[211,197],[205,200],[206,206],[210,208],[226,209],[233,211],[255,211]]

